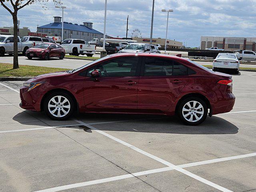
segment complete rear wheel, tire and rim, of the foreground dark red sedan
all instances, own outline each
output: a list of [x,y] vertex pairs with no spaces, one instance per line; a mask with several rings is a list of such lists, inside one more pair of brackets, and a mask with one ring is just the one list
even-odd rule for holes
[[182,100],[178,108],[180,119],[187,125],[199,125],[206,119],[208,108],[201,98],[190,97]]

